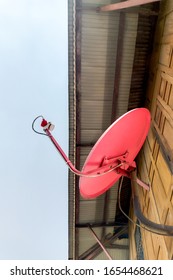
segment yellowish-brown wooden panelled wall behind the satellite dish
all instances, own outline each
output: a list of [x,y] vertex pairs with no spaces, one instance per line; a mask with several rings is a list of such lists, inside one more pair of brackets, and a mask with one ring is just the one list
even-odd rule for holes
[[[151,58],[147,105],[152,125],[138,157],[138,175],[151,183],[140,188],[143,214],[173,226],[173,1],[162,0]],[[133,206],[131,218],[136,222]],[[130,224],[130,258],[137,259],[136,226]],[[173,259],[173,237],[141,229],[144,259]]]

